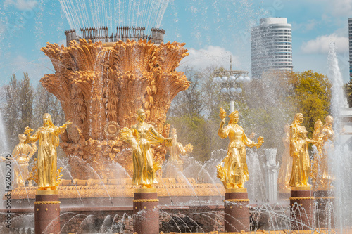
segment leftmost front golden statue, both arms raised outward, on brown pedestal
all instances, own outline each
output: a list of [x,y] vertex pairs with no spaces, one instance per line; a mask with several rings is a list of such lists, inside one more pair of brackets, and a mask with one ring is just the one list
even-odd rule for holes
[[38,190],[56,190],[56,169],[58,147],[58,135],[63,134],[70,121],[65,122],[63,126],[55,126],[51,121],[51,115],[43,115],[43,126],[39,127],[34,135],[29,127],[26,128],[27,140],[25,143],[31,143],[39,140],[37,172],[38,172]]

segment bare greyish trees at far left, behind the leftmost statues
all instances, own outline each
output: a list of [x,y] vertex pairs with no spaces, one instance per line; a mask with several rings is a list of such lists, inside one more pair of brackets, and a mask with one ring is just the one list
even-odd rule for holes
[[18,134],[25,131],[26,126],[37,129],[43,124],[44,113],[50,113],[54,124],[63,123],[65,115],[58,99],[40,84],[36,89],[30,84],[27,72],[20,81],[15,74],[4,86],[5,105],[1,112],[4,116],[8,149],[18,144]]

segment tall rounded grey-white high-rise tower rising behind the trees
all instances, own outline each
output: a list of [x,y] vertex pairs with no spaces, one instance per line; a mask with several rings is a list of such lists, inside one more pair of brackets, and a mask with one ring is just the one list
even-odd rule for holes
[[262,18],[251,30],[252,77],[270,70],[291,71],[292,32],[287,18]]

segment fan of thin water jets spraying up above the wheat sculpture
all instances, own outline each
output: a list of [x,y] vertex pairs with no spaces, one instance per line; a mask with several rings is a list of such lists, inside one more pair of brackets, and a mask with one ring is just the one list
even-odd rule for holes
[[169,0],[59,0],[71,28],[159,28]]

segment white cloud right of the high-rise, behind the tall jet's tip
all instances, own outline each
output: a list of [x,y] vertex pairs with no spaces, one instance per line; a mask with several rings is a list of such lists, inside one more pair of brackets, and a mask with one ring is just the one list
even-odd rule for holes
[[323,35],[316,39],[304,42],[301,46],[303,53],[329,53],[329,44],[334,42],[337,48],[337,53],[348,51],[348,37],[339,36],[336,33]]

